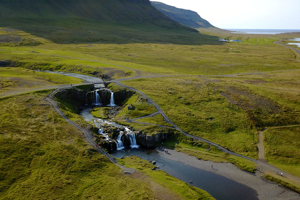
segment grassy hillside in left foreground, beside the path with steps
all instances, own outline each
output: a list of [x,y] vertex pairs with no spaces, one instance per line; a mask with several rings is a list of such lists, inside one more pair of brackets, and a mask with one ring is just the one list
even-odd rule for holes
[[213,199],[135,157],[126,175],[43,100],[0,98],[0,199]]

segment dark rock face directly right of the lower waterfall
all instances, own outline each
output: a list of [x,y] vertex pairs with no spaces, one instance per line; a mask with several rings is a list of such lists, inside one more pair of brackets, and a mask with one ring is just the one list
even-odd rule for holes
[[174,136],[174,133],[155,133],[153,135],[147,135],[144,132],[139,132],[136,135],[136,140],[138,145],[152,147],[156,142],[163,141],[170,136]]

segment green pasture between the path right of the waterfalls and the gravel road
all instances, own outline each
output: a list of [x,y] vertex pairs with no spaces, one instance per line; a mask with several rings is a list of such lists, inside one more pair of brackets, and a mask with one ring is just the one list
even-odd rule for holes
[[295,78],[299,71],[274,73],[278,78],[182,76],[123,82],[149,95],[187,133],[257,157],[255,128],[300,122],[299,82],[290,73]]

